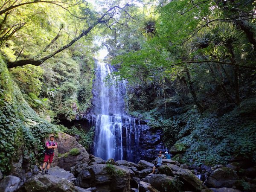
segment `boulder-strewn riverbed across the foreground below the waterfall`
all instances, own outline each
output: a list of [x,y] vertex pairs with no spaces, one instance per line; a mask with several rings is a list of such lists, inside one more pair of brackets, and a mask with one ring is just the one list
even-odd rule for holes
[[[58,155],[55,155],[49,175],[41,175],[37,166],[26,173],[26,177],[15,174],[3,177],[0,174],[0,192],[256,191],[256,167],[246,167],[242,163],[187,166],[164,159],[163,165],[151,175],[154,161],[105,161],[89,155],[73,137],[63,133],[59,134],[58,143]],[[79,148],[77,155],[62,155],[74,147]]]

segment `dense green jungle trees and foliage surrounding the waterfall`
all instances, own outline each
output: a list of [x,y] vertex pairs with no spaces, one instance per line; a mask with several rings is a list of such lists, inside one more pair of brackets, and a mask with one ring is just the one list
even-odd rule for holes
[[90,108],[93,57],[102,46],[105,62],[128,80],[129,113],[161,129],[175,159],[255,163],[255,2],[105,0],[99,6],[0,1],[0,171],[14,171],[20,157],[37,162],[47,134],[79,132],[58,124]]

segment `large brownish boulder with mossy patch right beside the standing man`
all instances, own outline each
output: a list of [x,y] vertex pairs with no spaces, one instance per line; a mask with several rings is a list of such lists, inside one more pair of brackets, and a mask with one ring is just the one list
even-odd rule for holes
[[[59,166],[67,171],[70,171],[70,167],[75,166],[79,161],[84,160],[89,162],[89,154],[85,148],[76,141],[75,137],[72,137],[65,133],[58,133],[58,138],[56,138],[58,148],[55,150],[55,166]],[[70,155],[71,149],[79,149],[78,155]]]

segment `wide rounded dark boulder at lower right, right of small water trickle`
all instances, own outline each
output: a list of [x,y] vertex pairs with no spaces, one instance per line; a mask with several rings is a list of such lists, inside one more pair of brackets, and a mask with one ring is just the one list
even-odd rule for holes
[[239,180],[239,177],[233,169],[222,167],[212,172],[207,179],[206,186],[213,188],[232,187],[236,180]]

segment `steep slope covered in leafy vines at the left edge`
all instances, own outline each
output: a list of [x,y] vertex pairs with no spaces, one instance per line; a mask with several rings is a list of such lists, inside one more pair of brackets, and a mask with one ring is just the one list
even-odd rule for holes
[[0,171],[6,175],[10,162],[20,156],[35,164],[41,158],[44,137],[58,129],[29,107],[1,58],[0,70]]

